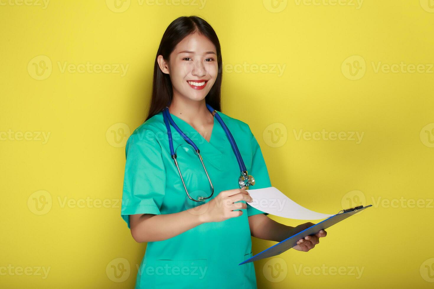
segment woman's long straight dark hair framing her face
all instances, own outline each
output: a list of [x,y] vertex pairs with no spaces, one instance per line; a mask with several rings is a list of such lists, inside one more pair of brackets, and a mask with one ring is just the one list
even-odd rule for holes
[[[215,110],[221,111],[220,102],[220,87],[222,81],[222,59],[220,42],[214,29],[204,19],[198,16],[181,16],[173,20],[172,23],[164,31],[161,38],[160,47],[158,47],[157,55],[155,56],[154,64],[154,79],[152,82],[152,98],[146,120],[158,114],[172,100],[172,82],[170,76],[163,73],[158,66],[158,55],[163,55],[164,60],[168,61],[171,52],[175,46],[182,41],[186,36],[199,32],[211,42],[214,43],[217,52],[218,74],[213,87],[205,97],[205,102],[210,104]],[[145,121],[146,121],[145,120]]]

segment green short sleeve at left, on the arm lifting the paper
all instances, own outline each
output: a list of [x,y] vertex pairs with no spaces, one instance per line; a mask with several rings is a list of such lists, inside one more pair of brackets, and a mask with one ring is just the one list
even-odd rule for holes
[[166,171],[161,146],[155,137],[133,133],[128,138],[125,154],[121,216],[130,228],[129,215],[161,214]]

